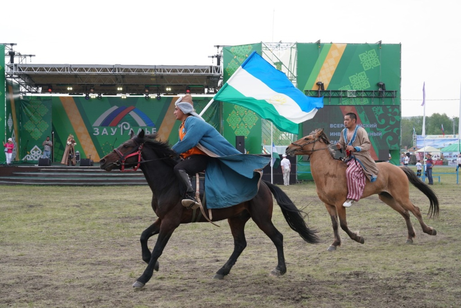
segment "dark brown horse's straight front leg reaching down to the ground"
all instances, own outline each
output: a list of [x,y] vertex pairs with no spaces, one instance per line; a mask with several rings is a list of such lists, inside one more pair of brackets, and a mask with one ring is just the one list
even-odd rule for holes
[[163,219],[160,225],[159,236],[157,237],[157,242],[155,242],[154,249],[152,249],[152,254],[148,266],[142,273],[142,275],[136,279],[133,284],[134,288],[142,288],[149,280],[152,278],[154,273],[155,266],[157,265],[157,260],[162,255],[163,249],[165,249],[166,243],[173,234],[173,231],[179,226],[179,219],[174,217],[173,219]]

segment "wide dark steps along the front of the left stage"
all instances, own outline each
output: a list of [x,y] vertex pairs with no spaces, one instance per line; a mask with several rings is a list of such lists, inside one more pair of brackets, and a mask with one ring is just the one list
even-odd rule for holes
[[99,165],[17,165],[0,168],[0,175],[0,184],[7,185],[147,185],[141,170],[107,172],[101,170]]

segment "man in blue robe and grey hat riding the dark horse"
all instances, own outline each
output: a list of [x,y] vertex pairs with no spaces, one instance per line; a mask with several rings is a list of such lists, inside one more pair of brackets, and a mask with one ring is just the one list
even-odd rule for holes
[[179,141],[172,149],[183,160],[173,170],[185,186],[183,206],[198,205],[189,175],[204,170],[208,208],[230,207],[252,199],[258,192],[260,170],[270,158],[240,153],[195,112],[190,94],[180,97],[175,106],[174,115],[182,123]]

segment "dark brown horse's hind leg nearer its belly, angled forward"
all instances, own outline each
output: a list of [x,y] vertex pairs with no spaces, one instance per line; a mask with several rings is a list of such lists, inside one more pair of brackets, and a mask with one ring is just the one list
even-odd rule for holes
[[223,279],[225,275],[231,272],[237,258],[242,253],[243,249],[247,247],[247,240],[245,239],[245,224],[250,219],[248,212],[243,212],[240,216],[227,219],[231,227],[232,236],[234,237],[234,251],[227,262],[221,267],[214,275],[215,279]]

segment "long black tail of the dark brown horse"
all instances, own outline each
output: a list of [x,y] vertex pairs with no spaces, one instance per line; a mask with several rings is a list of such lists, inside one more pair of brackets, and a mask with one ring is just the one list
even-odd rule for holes
[[282,210],[285,220],[287,221],[290,228],[296,231],[307,243],[319,243],[320,239],[316,235],[317,231],[309,229],[306,222],[304,221],[303,215],[301,215],[307,214],[298,209],[293,201],[290,200],[288,195],[286,195],[284,191],[279,187],[267,181],[263,182],[267,185],[267,187],[269,187],[272,195],[274,195],[274,198]]

